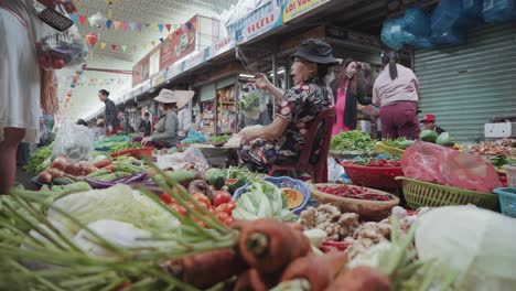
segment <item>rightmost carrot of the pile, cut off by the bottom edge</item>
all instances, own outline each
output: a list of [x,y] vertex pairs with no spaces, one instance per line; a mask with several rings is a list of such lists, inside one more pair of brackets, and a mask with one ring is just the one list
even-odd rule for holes
[[337,276],[326,291],[391,291],[390,278],[370,267],[356,267]]

